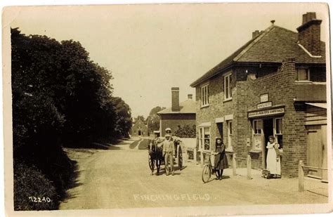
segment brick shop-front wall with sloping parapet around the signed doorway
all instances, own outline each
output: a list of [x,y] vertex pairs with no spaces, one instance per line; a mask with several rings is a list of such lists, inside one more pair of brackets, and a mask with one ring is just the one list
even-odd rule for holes
[[[283,157],[281,163],[284,176],[297,176],[299,160],[306,160],[304,111],[301,107],[294,105],[295,75],[295,64],[292,59],[289,59],[282,63],[279,72],[247,81],[249,110],[256,110],[256,104],[260,102],[259,96],[264,93],[268,93],[269,101],[272,101],[273,106],[285,105],[285,114],[282,116]],[[252,162],[261,165],[260,157]]]

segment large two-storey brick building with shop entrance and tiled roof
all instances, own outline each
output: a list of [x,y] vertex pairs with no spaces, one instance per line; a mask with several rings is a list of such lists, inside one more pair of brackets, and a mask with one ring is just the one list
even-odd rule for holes
[[[303,15],[298,32],[274,25],[190,86],[196,88],[197,139],[201,159],[223,138],[245,167],[266,168],[266,144],[280,143],[282,176],[296,176],[299,160],[327,167],[325,43],[321,20]],[[326,178],[320,171],[313,176]],[[324,177],[323,177],[324,176]]]

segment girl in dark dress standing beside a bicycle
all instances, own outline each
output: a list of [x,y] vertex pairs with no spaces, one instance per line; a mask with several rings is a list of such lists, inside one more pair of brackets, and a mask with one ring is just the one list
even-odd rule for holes
[[215,143],[215,169],[218,177],[216,179],[222,180],[223,169],[227,169],[229,167],[228,159],[226,155],[226,146],[222,143],[221,138],[216,138]]

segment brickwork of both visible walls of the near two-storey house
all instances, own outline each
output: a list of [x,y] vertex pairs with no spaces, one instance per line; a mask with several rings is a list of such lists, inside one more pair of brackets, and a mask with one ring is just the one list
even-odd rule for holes
[[[283,122],[283,176],[297,176],[299,160],[306,160],[306,131],[304,126],[303,107],[294,105],[295,63],[293,59],[284,61],[279,70],[277,66],[266,67],[266,72],[257,79],[244,79],[244,67],[235,67],[232,74],[233,99],[224,101],[224,77],[219,74],[209,80],[209,106],[201,107],[201,89],[196,88],[197,101],[197,136],[200,124],[211,123],[211,148],[214,147],[214,138],[220,136],[215,119],[233,114],[233,151],[237,154],[237,166],[245,167],[247,155],[252,157],[252,168],[261,169],[262,153],[249,152],[253,149],[252,120],[248,119],[247,112],[256,110],[260,103],[260,96],[268,93],[269,101],[275,105],[285,105],[285,114],[280,114]],[[254,69],[254,68],[252,68]],[[253,71],[248,71],[253,72]],[[228,73],[228,72],[227,72]],[[245,74],[246,75],[246,74]],[[237,78],[237,80],[236,80]],[[258,118],[262,119],[262,117]],[[247,145],[247,139],[250,143]],[[228,127],[226,119],[223,121],[223,143],[228,146]],[[262,144],[265,145],[266,144]]]

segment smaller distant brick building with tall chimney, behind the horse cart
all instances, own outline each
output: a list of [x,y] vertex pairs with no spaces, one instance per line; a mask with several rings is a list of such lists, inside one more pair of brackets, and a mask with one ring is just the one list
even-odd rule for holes
[[159,115],[160,136],[165,135],[165,129],[171,128],[174,132],[178,126],[195,125],[196,103],[192,100],[192,94],[188,94],[188,99],[179,103],[179,88],[171,88],[171,107],[157,112]]

